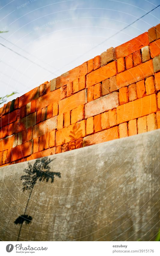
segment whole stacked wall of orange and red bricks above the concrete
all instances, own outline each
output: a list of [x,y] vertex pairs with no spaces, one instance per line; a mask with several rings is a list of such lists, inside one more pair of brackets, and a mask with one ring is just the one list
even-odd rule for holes
[[0,109],[1,166],[160,128],[160,24]]

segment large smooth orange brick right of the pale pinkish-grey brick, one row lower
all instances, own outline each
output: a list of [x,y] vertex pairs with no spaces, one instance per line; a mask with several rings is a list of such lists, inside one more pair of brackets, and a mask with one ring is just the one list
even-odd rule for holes
[[130,101],[117,107],[117,124],[157,111],[156,94]]

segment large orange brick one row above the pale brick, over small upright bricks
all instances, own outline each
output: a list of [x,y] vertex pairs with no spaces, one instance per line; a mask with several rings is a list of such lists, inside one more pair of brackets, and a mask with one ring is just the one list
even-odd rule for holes
[[86,87],[88,88],[89,86],[98,84],[103,80],[116,75],[116,72],[116,62],[110,62],[107,65],[92,71],[86,76]]

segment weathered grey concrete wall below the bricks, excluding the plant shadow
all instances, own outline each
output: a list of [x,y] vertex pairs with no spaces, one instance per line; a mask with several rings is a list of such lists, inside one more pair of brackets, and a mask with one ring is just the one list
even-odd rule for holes
[[[154,240],[160,228],[160,130],[52,155],[51,183],[37,182],[20,241]],[[30,161],[31,164],[35,160]],[[0,238],[16,241],[30,191],[20,180],[28,162],[0,168]]]

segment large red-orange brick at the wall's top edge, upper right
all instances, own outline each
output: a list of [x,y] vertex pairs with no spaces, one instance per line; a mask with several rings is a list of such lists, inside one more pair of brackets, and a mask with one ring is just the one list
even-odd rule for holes
[[130,41],[115,48],[116,59],[123,58],[133,52],[140,50],[143,46],[149,45],[148,33],[145,32]]

